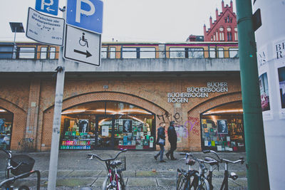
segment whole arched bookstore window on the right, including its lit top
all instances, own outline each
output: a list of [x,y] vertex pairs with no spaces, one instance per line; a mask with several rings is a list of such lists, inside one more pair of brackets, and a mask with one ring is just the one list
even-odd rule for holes
[[202,149],[245,151],[242,113],[241,101],[214,107],[202,113]]

